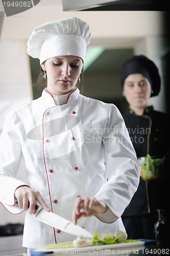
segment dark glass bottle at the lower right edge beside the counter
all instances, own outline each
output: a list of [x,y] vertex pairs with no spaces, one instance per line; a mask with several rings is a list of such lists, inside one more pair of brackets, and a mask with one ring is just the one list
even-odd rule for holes
[[170,224],[165,219],[164,209],[157,209],[158,221],[155,223],[155,240],[157,249],[168,249],[170,244]]

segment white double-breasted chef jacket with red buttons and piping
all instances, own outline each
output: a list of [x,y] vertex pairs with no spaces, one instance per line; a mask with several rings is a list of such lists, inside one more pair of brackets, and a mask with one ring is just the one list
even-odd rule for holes
[[[91,233],[125,231],[121,215],[139,183],[140,165],[122,115],[114,104],[72,92],[56,105],[42,96],[11,111],[0,140],[0,202],[12,214],[18,186],[39,190],[56,214],[71,221],[76,198],[97,198],[109,209],[81,218],[78,225]],[[29,184],[16,179],[21,157]],[[55,229],[26,212],[23,247],[72,241],[75,236]]]

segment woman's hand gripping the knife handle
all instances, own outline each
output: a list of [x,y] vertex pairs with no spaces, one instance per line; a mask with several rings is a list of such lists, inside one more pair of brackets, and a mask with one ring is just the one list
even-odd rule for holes
[[31,189],[29,186],[18,187],[15,190],[15,197],[17,198],[19,208],[23,211],[27,211],[29,209],[30,214],[35,213],[35,205],[37,202],[39,202],[45,210],[51,211],[41,197],[39,191]]

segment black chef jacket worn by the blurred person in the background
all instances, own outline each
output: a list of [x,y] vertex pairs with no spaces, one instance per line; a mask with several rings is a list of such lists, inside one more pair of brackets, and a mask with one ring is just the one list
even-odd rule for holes
[[170,118],[166,113],[155,111],[153,106],[147,107],[142,116],[129,110],[123,117],[137,157],[145,157],[147,154],[156,157],[166,155],[158,179],[144,181],[140,178],[138,189],[122,217],[152,214],[158,208],[166,208],[169,200]]

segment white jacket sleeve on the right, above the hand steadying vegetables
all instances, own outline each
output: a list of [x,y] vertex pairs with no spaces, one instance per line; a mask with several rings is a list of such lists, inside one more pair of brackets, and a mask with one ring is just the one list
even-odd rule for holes
[[[112,222],[122,216],[137,190],[140,164],[137,160],[124,119],[116,106],[112,105],[103,137],[105,167],[108,182],[94,196],[103,201],[110,211],[96,216]],[[111,217],[112,215],[112,217]],[[103,217],[101,217],[103,216]]]

